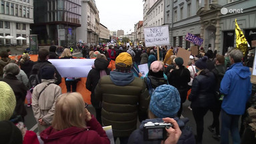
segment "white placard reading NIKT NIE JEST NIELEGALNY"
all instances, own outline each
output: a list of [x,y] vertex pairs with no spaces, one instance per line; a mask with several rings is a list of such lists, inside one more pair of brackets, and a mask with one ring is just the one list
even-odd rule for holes
[[144,37],[146,47],[169,45],[169,27],[168,25],[159,27],[145,27]]

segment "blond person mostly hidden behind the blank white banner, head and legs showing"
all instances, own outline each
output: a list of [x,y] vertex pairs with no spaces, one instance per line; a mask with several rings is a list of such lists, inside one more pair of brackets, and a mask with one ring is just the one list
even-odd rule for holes
[[[63,53],[61,53],[61,59],[73,59],[70,49],[65,48]],[[72,92],[77,91],[77,80],[75,77],[65,77],[65,84],[67,88],[67,92],[71,92],[71,85],[72,85]]]

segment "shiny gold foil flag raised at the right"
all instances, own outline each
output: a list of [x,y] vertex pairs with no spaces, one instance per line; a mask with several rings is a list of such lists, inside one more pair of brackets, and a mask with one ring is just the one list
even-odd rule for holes
[[243,31],[241,31],[239,25],[237,24],[237,19],[235,19],[235,34],[237,35],[237,47],[235,49],[239,49],[240,51],[242,51],[243,56],[245,56],[248,48],[247,40],[245,39],[245,35],[243,35]]

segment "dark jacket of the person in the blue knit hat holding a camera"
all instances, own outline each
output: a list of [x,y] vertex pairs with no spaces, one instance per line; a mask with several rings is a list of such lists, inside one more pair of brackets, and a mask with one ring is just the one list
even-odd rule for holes
[[[193,135],[191,129],[188,129],[187,127],[185,127],[185,124],[187,122],[189,122],[188,118],[183,118],[183,119],[176,119],[179,128],[181,129],[182,133],[181,133],[181,137],[179,137],[179,141],[177,142],[177,144],[194,144],[195,143],[195,136]],[[153,123],[163,123],[163,120],[161,118],[157,118],[157,119],[146,119],[145,121],[141,122],[141,125],[139,126],[139,129],[136,129],[135,131],[133,131],[133,133],[131,133],[128,143],[129,144],[159,144],[161,143],[161,141],[145,141],[143,139],[143,127],[145,125],[145,123],[147,122],[153,122]]]

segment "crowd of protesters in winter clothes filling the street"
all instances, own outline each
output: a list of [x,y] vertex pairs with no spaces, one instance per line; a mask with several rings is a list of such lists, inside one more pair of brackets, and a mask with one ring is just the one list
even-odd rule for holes
[[[112,125],[114,141],[119,138],[121,144],[161,143],[162,139],[145,139],[144,125],[165,121],[173,127],[164,129],[168,137],[163,143],[200,144],[208,111],[213,113],[213,123],[207,129],[214,139],[229,143],[230,131],[233,143],[255,143],[256,86],[251,84],[249,68],[254,55],[249,53],[243,62],[243,53],[237,49],[229,49],[224,56],[217,49],[200,47],[198,55],[190,55],[185,63],[177,57],[179,49],[166,46],[157,52],[156,47],[79,45],[83,58],[95,59],[85,83],[95,116],[75,92],[77,78],[65,77],[67,93],[62,93],[61,76],[48,61],[73,59],[72,47],[39,49],[37,62],[29,60],[27,53],[13,60],[7,51],[1,51],[0,125],[4,127],[0,137],[7,143],[39,143],[33,131],[21,129],[27,98],[43,143],[110,143],[102,128],[107,125]],[[145,77],[138,69],[142,64],[149,68]],[[39,83],[32,85],[32,76]],[[195,135],[186,125],[189,119],[182,117],[187,99],[196,123]],[[3,131],[7,133],[3,135]]]

